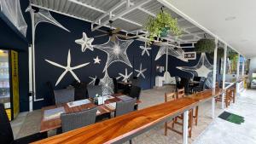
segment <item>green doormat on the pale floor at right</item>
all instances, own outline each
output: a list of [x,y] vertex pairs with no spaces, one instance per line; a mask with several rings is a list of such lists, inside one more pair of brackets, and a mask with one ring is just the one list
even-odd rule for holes
[[234,123],[234,124],[241,124],[244,123],[244,118],[236,115],[234,113],[230,113],[230,112],[222,112],[218,118],[222,118],[226,121],[229,121],[230,123]]

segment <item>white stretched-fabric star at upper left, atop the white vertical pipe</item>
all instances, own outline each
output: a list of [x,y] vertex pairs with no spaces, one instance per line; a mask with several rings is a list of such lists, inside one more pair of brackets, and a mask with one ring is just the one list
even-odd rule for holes
[[53,24],[55,26],[61,27],[63,30],[65,30],[67,32],[70,32],[69,30],[67,30],[66,27],[62,26],[57,20],[55,20],[55,18],[53,18],[51,16],[51,14],[49,14],[48,10],[39,9],[39,11],[37,13],[35,13],[35,10],[33,10],[32,7],[29,5],[26,8],[26,12],[30,12],[31,14],[34,14],[35,30],[36,30],[36,27],[38,26],[38,24],[40,22],[48,22],[48,23]]

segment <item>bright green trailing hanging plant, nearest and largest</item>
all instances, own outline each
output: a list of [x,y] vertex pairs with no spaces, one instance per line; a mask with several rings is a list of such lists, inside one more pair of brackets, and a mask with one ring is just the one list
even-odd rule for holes
[[145,29],[149,33],[149,44],[154,41],[154,37],[166,37],[170,32],[175,36],[182,33],[182,30],[177,26],[177,19],[172,18],[172,15],[166,13],[163,8],[155,18],[153,16],[148,17]]

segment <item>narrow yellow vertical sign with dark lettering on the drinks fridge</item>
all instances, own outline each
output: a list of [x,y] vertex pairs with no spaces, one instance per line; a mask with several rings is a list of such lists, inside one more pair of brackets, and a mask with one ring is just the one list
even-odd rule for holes
[[13,91],[13,112],[14,118],[20,112],[20,95],[19,95],[19,68],[18,53],[11,50],[11,72],[12,72],[12,91]]

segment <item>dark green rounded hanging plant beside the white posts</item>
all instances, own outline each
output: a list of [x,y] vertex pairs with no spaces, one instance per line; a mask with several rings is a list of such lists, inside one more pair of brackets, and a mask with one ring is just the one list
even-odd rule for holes
[[195,43],[195,51],[198,53],[212,53],[214,52],[215,46],[214,40],[202,38]]

